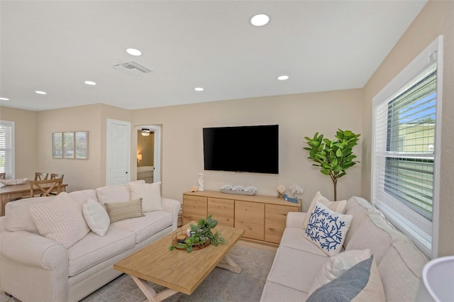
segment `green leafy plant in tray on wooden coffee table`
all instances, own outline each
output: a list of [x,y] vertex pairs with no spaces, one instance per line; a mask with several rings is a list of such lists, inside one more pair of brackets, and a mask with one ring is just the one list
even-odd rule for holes
[[190,228],[194,234],[191,237],[187,237],[184,242],[177,242],[176,246],[170,245],[169,250],[172,251],[177,247],[178,249],[186,249],[187,252],[192,252],[193,247],[204,245],[207,241],[216,247],[219,243],[225,245],[226,239],[217,230],[213,230],[216,225],[218,225],[218,220],[214,220],[211,215],[206,219],[197,221],[197,225],[191,223]]

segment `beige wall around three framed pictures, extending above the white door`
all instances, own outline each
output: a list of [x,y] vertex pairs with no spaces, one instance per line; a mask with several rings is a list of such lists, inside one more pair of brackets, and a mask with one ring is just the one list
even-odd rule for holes
[[[107,118],[129,121],[128,110],[94,104],[62,108],[36,113],[37,155],[36,169],[65,174],[67,191],[94,189],[106,184],[106,125]],[[88,131],[88,159],[55,159],[52,157],[52,133]],[[135,162],[134,162],[135,163]],[[21,163],[18,163],[21,166]]]

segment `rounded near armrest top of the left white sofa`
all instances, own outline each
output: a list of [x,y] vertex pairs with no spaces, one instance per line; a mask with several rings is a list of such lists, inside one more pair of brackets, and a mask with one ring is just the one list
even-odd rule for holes
[[1,234],[1,256],[30,267],[64,270],[67,274],[67,250],[53,240],[27,231]]

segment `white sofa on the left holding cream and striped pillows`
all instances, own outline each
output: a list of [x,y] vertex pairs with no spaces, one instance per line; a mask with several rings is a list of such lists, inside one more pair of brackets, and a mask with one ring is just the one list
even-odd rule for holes
[[[69,195],[80,206],[89,198],[99,203],[131,201],[130,184]],[[30,213],[32,205],[52,198],[7,203],[0,218],[0,289],[24,302],[79,301],[121,274],[113,269],[115,262],[177,229],[179,201],[161,198],[162,211],[111,223],[102,237],[90,231],[66,248],[41,236]]]

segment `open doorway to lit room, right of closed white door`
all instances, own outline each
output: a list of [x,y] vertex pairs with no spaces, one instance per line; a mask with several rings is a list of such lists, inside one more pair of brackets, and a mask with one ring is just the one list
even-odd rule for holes
[[137,180],[146,183],[160,181],[161,127],[140,125],[137,127]]

